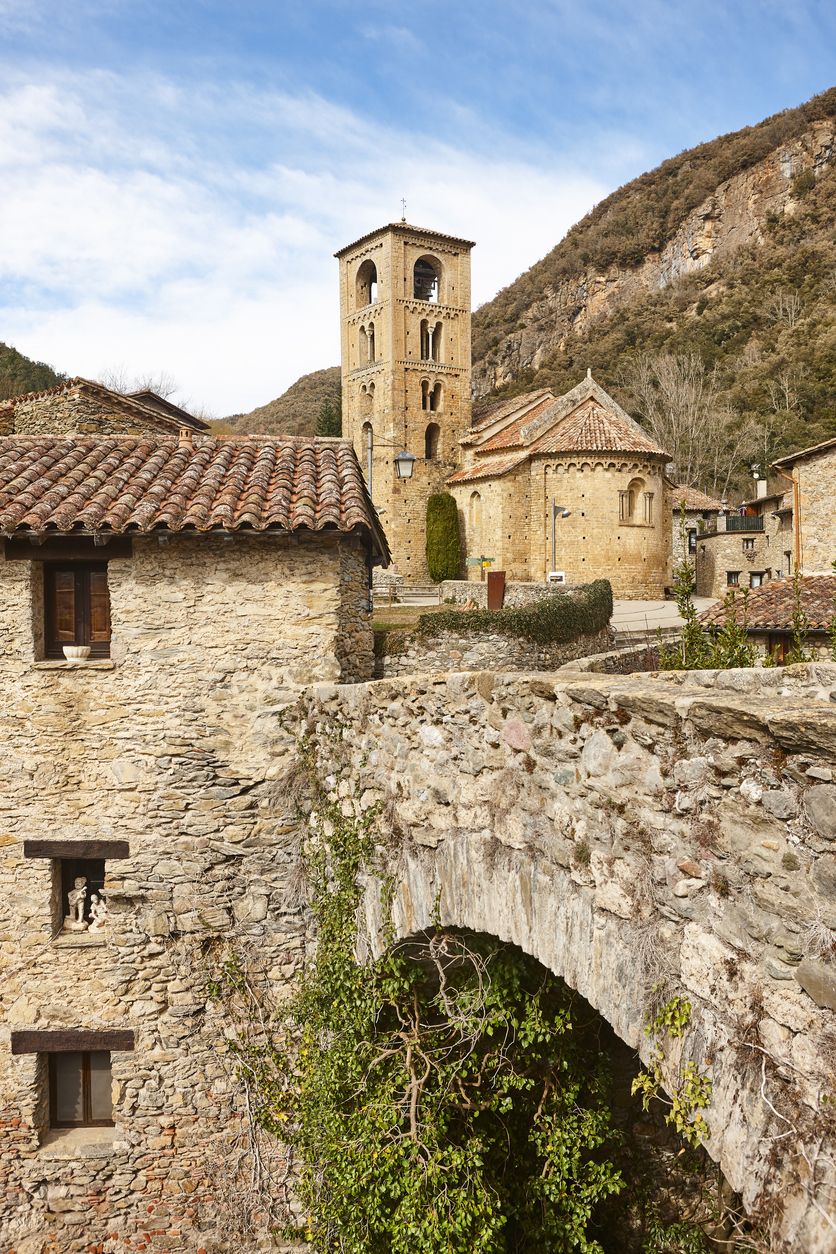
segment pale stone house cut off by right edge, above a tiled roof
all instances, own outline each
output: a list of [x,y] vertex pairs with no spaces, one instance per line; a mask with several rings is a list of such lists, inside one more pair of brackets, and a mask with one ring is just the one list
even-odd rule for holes
[[830,574],[836,561],[836,439],[778,458],[773,468],[791,479],[783,510],[795,513],[795,564],[805,574]]

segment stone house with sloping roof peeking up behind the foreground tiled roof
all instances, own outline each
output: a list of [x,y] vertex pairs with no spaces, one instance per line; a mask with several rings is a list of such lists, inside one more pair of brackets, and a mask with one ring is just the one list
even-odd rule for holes
[[144,389],[123,395],[90,379],[68,379],[44,391],[0,401],[4,435],[177,435],[208,424]]

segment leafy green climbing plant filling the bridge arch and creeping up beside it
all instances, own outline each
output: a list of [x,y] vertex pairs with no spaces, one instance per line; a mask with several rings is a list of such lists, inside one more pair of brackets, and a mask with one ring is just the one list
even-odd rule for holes
[[[295,1235],[322,1254],[600,1254],[589,1226],[623,1180],[597,1017],[491,938],[435,928],[357,962],[380,815],[355,809],[317,793],[316,957],[292,1001],[233,1041],[256,1120],[302,1164]],[[246,983],[231,958],[213,997],[241,1007]]]

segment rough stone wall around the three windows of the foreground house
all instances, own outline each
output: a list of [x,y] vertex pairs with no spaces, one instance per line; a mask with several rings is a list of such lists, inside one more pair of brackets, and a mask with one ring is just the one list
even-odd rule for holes
[[[252,1203],[248,1125],[207,981],[233,934],[276,988],[301,961],[282,711],[371,657],[362,549],[135,539],[109,563],[113,660],[75,666],[36,661],[36,564],[0,561],[0,1246],[254,1250],[227,1234]],[[31,839],[129,843],[107,863],[99,943],[55,935]],[[113,1053],[112,1132],[46,1134],[44,1057],[10,1055],[33,1028],[133,1030]]]

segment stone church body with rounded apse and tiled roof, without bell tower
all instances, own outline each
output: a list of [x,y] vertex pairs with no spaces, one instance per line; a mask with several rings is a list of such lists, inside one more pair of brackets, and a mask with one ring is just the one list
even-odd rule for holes
[[664,596],[669,455],[590,372],[564,396],[541,390],[489,408],[461,449],[447,488],[469,556],[509,579],[607,578],[617,597]]

